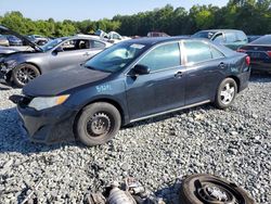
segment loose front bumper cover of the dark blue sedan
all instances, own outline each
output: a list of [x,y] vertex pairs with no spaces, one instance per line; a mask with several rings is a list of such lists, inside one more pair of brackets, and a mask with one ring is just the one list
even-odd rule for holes
[[17,105],[23,127],[31,141],[41,143],[56,143],[74,141],[74,120],[76,111],[64,105],[36,111],[31,107]]

